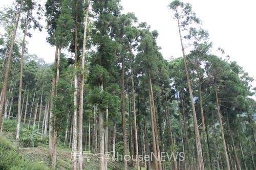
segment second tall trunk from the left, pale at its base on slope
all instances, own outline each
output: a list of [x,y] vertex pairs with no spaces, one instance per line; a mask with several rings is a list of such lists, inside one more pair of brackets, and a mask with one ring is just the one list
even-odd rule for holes
[[22,112],[21,103],[22,103],[22,78],[23,78],[23,60],[24,60],[24,47],[25,47],[25,38],[27,34],[28,20],[29,20],[30,11],[28,11],[25,28],[24,28],[24,36],[22,41],[22,56],[20,58],[20,73],[19,73],[19,88],[18,88],[18,120],[17,120],[17,130],[16,130],[16,140],[19,142],[19,131],[20,131],[20,122],[22,120]]

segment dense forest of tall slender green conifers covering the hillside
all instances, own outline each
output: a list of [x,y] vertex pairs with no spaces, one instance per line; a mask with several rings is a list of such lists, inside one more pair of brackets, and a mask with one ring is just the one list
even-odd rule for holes
[[[222,48],[212,54],[191,4],[163,8],[182,53],[169,60],[120,0],[1,8],[0,169],[61,169],[65,151],[66,169],[255,170],[254,79]],[[42,22],[54,63],[26,47]],[[21,151],[33,148],[47,151],[45,167],[28,165]]]

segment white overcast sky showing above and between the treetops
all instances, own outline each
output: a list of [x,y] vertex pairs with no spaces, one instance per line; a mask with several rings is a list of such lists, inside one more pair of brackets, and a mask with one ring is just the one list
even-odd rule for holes
[[[0,7],[12,1],[0,1]],[[176,20],[166,0],[121,0],[123,13],[134,12],[139,22],[145,21],[152,30],[157,30],[157,39],[161,53],[165,59],[180,57],[181,45]],[[192,5],[197,17],[202,20],[202,28],[209,32],[210,41],[214,44],[211,52],[216,54],[218,47],[223,48],[225,56],[237,61],[249,76],[256,79],[255,40],[256,25],[254,23],[256,1],[231,0],[184,0]],[[55,48],[46,42],[47,32],[32,32],[33,37],[27,38],[28,51],[44,58],[46,62],[54,61]],[[221,56],[219,56],[221,57]],[[222,56],[224,57],[224,56]],[[253,82],[256,86],[256,82]]]

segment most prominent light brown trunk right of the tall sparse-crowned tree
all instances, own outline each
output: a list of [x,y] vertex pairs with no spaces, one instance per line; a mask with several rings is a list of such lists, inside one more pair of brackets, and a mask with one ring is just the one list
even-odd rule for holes
[[225,136],[224,136],[224,129],[223,129],[223,126],[222,126],[222,119],[221,119],[221,112],[220,112],[220,105],[219,105],[216,83],[215,83],[215,95],[216,95],[216,103],[217,103],[218,116],[219,116],[220,127],[221,127],[221,136],[222,136],[223,148],[224,148],[224,153],[225,153],[226,165],[227,165],[227,170],[230,170],[227,148],[226,148],[226,141],[225,141]]

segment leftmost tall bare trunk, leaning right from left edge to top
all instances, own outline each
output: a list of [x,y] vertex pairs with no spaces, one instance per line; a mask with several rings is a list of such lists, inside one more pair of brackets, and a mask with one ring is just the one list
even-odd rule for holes
[[6,94],[6,88],[7,88],[7,83],[8,83],[10,63],[11,63],[11,59],[12,59],[12,50],[13,50],[15,36],[16,36],[17,28],[18,28],[19,16],[20,16],[20,12],[22,10],[22,7],[23,7],[23,0],[20,1],[18,15],[17,15],[16,23],[15,23],[15,30],[13,32],[13,37],[12,37],[11,47],[10,47],[10,51],[9,51],[9,56],[8,56],[8,60],[7,60],[7,63],[6,63],[5,78],[4,78],[4,84],[3,84],[3,87],[2,87],[1,101],[0,101],[0,123],[2,122],[2,115],[3,115],[3,110],[4,110],[5,94]]

